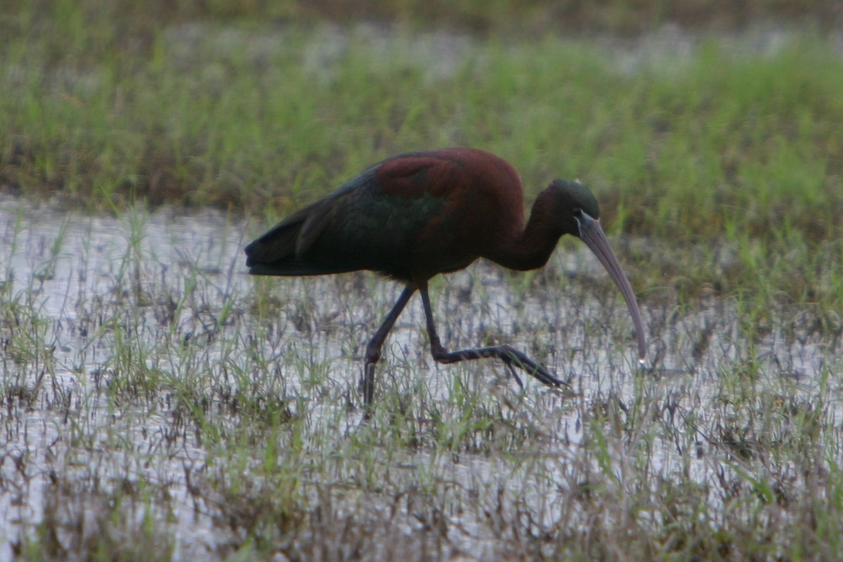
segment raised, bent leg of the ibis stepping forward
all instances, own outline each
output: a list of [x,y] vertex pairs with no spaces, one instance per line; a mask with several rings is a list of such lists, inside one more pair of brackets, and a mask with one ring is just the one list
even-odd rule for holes
[[[495,345],[493,347],[477,347],[474,349],[448,351],[439,341],[439,336],[436,334],[436,326],[433,324],[433,311],[430,306],[430,297],[427,295],[427,283],[419,283],[419,292],[421,292],[421,303],[424,306],[424,314],[427,320],[427,335],[430,337],[430,352],[433,359],[439,363],[458,363],[459,361],[471,361],[474,359],[485,359],[487,357],[497,357],[510,370],[513,367],[518,367],[522,371],[528,373],[532,377],[540,380],[549,387],[560,388],[568,386],[567,383],[556,378],[543,365],[536,363],[524,353],[513,348],[511,345]],[[513,371],[514,374],[514,371]],[[520,384],[518,377],[515,379]]]

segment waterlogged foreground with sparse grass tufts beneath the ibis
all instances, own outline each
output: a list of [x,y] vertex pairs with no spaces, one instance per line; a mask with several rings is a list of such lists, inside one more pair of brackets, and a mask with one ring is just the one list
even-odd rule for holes
[[[361,424],[366,340],[398,288],[244,275],[254,224],[0,208],[0,557],[832,559],[840,328],[734,299],[645,302],[654,372],[582,244],[540,273],[433,289],[443,339],[561,375],[437,367],[421,306]],[[650,244],[638,240],[636,244]]]

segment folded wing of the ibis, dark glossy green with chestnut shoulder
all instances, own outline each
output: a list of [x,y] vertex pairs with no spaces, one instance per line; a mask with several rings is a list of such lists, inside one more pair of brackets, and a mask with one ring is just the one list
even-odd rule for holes
[[453,157],[406,153],[374,165],[246,246],[250,273],[375,270],[410,279],[468,265],[476,256],[443,256],[431,244],[418,254],[460,185],[462,164]]

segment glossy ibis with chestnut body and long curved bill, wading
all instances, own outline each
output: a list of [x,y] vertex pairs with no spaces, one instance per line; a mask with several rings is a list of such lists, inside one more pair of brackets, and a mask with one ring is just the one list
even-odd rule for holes
[[536,198],[524,225],[521,181],[506,160],[474,148],[448,148],[388,158],[325,198],[279,222],[246,246],[253,275],[315,276],[373,270],[405,283],[404,292],[366,347],[363,401],[374,393],[381,347],[412,294],[421,292],[430,350],[440,363],[497,357],[542,383],[565,383],[509,345],[448,351],[433,324],[427,281],[486,258],[513,270],[545,265],[562,234],[583,240],[626,299],[646,345],[641,313],[600,227],[600,210],[588,189],[555,179]]

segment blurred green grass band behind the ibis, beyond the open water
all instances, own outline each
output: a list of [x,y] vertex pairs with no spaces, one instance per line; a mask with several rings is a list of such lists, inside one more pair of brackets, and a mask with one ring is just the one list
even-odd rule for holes
[[528,196],[582,179],[611,232],[665,244],[621,249],[647,264],[644,286],[733,292],[765,270],[779,300],[839,306],[841,13],[830,0],[13,0],[0,190],[269,222],[391,154],[470,145],[510,160]]

